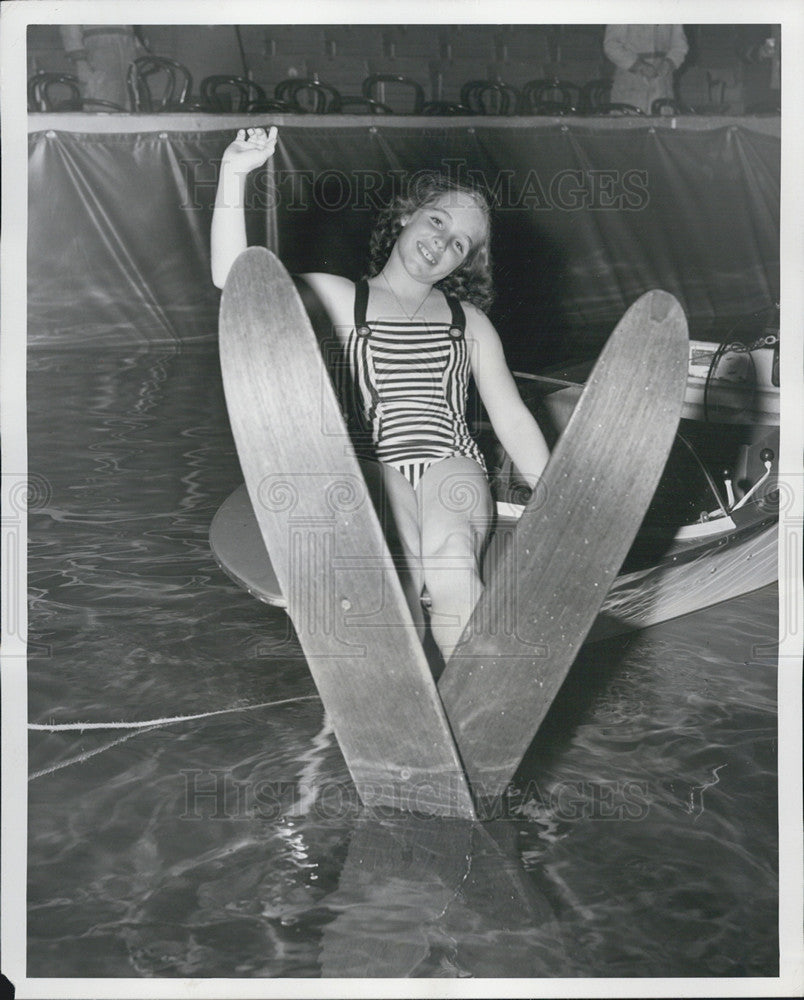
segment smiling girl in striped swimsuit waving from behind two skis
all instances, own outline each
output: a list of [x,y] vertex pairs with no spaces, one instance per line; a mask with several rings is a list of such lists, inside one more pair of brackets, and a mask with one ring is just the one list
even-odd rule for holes
[[[273,154],[276,138],[276,128],[241,129],[223,154],[212,217],[219,288],[246,249],[246,175]],[[466,423],[470,372],[497,438],[530,486],[548,458],[483,311],[491,300],[489,229],[479,192],[419,178],[381,215],[366,279],[303,276],[343,345],[351,376],[345,415],[360,431],[356,447],[372,494],[381,491],[390,508],[414,621],[423,634],[426,588],[444,660],[483,589],[479,557],[492,515],[483,458]]]

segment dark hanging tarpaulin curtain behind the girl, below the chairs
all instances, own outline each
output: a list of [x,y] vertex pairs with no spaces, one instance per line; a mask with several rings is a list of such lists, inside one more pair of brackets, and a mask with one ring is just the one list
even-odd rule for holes
[[[231,135],[31,135],[31,343],[214,339],[209,222]],[[538,368],[595,354],[649,288],[676,295],[700,339],[761,326],[779,296],[779,156],[778,138],[735,125],[289,125],[250,185],[249,237],[271,233],[292,271],[357,277],[407,173],[478,183],[494,205],[492,319],[511,364]]]

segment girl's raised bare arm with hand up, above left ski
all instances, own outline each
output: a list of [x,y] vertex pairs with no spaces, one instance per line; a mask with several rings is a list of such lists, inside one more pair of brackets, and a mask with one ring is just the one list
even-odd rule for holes
[[246,249],[246,176],[261,167],[275,147],[276,126],[272,126],[268,133],[241,128],[224,150],[210,236],[212,281],[218,288],[226,284],[229,269]]

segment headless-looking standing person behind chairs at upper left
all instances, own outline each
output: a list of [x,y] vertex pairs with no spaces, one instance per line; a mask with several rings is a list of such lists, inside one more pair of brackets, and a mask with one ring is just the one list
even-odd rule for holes
[[63,24],[59,27],[67,58],[75,64],[82,97],[111,101],[126,110],[128,67],[145,50],[130,24]]

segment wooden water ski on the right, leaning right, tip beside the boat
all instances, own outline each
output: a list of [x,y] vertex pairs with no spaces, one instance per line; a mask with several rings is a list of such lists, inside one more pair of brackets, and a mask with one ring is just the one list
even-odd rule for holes
[[681,415],[687,325],[643,295],[611,335],[439,681],[479,804],[514,775],[613,583]]

